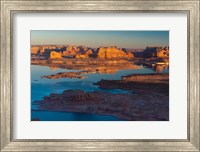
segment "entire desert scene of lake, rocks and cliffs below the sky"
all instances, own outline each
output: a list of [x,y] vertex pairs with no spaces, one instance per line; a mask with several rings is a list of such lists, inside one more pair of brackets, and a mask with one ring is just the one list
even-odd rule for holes
[[169,46],[31,45],[31,76],[32,121],[169,120]]

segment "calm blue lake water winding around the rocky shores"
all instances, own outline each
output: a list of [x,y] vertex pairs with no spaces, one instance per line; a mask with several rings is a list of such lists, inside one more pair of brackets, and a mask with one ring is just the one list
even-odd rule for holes
[[[132,70],[120,70],[115,74],[85,74],[85,79],[45,79],[41,78],[44,75],[56,74],[58,72],[75,72],[79,70],[69,70],[60,68],[50,68],[47,66],[31,65],[31,119],[39,119],[40,121],[120,121],[120,119],[109,116],[109,115],[97,115],[97,114],[86,114],[76,112],[50,112],[41,111],[34,104],[35,100],[41,100],[42,97],[48,96],[50,93],[62,93],[68,89],[79,89],[86,92],[95,90],[105,91],[110,93],[130,93],[126,90],[120,89],[100,89],[93,83],[100,81],[101,79],[107,80],[119,80],[121,76],[128,74],[144,74],[144,73],[156,73],[157,69],[146,68],[140,66],[138,69]],[[161,73],[168,73],[168,68],[159,69]]]

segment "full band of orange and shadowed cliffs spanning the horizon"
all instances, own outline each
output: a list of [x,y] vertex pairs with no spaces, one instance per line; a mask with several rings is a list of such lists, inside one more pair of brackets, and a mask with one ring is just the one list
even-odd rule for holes
[[[133,49],[117,48],[117,46],[89,48],[85,46],[74,45],[32,45],[31,54],[32,58],[50,58],[52,51],[59,52],[64,58],[77,58],[77,59],[126,59],[144,58],[169,58],[169,47],[146,47],[142,52],[133,52]],[[140,50],[141,51],[141,50]]]

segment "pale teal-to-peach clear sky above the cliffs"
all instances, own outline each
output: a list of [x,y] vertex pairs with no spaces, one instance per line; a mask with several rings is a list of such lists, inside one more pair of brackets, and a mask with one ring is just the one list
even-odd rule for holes
[[84,45],[146,48],[169,46],[169,31],[32,30],[31,45]]

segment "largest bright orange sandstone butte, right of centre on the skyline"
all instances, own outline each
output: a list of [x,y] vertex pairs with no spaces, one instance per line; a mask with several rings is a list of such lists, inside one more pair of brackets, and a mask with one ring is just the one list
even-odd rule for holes
[[132,59],[134,57],[132,53],[125,53],[122,49],[118,49],[116,46],[100,47],[97,56],[99,59]]

